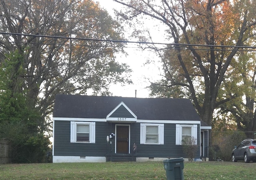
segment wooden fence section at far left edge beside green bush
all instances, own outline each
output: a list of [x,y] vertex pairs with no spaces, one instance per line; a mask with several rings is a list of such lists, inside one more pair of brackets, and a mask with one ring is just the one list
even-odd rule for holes
[[10,145],[6,138],[0,139],[0,164],[8,164],[11,162]]

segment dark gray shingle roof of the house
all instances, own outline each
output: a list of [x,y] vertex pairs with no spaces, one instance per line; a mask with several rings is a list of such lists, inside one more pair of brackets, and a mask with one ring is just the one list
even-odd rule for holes
[[143,120],[200,121],[189,99],[56,95],[53,117],[104,119],[121,102]]

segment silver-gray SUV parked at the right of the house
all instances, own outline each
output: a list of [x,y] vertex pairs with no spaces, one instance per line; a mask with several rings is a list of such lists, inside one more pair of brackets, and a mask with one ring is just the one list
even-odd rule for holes
[[232,162],[256,162],[256,139],[245,139],[232,151]]

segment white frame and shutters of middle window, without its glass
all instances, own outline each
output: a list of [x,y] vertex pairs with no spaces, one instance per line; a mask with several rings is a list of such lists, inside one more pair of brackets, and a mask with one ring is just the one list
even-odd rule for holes
[[[146,142],[146,126],[158,126],[158,143]],[[140,144],[164,144],[164,124],[140,123]]]

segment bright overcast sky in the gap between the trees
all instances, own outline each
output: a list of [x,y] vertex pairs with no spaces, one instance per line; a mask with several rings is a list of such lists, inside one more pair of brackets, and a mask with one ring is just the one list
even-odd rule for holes
[[[120,4],[113,2],[112,0],[94,0],[95,2],[99,2],[100,7],[104,8],[108,11],[108,13],[114,18],[113,8],[119,9],[121,7]],[[152,26],[152,23],[150,24]],[[145,24],[146,26],[146,24]],[[148,27],[154,28],[155,27]],[[159,32],[155,33],[159,35]],[[156,39],[159,40],[157,37]],[[135,47],[136,45],[129,45]],[[121,85],[112,85],[110,91],[114,96],[122,96],[122,97],[149,97],[149,91],[146,89],[148,85],[150,85],[149,81],[146,78],[149,78],[151,81],[156,79],[160,79],[160,71],[158,70],[159,64],[151,64],[145,65],[144,63],[147,60],[155,60],[158,61],[158,57],[153,53],[150,53],[147,50],[142,51],[138,48],[125,48],[125,51],[128,52],[128,56],[125,57],[122,54],[117,55],[117,61],[120,63],[127,63],[130,68],[133,70],[132,73],[132,81],[133,85],[126,85],[122,87]]]

